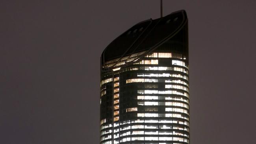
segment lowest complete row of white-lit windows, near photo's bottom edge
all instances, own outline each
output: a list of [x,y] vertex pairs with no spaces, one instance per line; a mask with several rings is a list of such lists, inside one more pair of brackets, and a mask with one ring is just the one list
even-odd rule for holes
[[134,140],[163,140],[163,141],[189,142],[187,138],[180,138],[180,137],[127,137],[127,138],[122,138],[120,142],[134,141]]

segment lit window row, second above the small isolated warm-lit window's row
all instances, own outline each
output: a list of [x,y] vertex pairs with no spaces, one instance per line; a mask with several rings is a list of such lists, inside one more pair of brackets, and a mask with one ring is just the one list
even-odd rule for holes
[[137,96],[137,100],[178,100],[182,102],[189,103],[188,99],[184,99],[182,97],[177,96]]

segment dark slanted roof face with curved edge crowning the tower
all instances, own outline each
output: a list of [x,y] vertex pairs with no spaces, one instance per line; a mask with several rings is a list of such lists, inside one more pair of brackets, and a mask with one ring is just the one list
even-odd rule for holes
[[106,61],[112,59],[121,60],[124,56],[147,51],[138,56],[143,57],[174,37],[187,25],[187,21],[186,11],[180,10],[165,17],[135,24],[105,48],[101,55],[101,65],[104,66]]

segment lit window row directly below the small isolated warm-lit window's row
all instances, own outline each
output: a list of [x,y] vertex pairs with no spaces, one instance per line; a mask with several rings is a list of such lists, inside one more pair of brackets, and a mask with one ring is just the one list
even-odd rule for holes
[[183,118],[189,120],[188,117],[183,116],[182,114],[173,114],[173,113],[137,113],[137,117],[172,117],[172,118]]

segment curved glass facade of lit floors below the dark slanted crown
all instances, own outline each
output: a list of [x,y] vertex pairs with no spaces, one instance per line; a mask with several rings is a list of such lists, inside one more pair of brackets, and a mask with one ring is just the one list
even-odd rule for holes
[[188,68],[185,55],[152,52],[103,72],[101,144],[189,143]]

